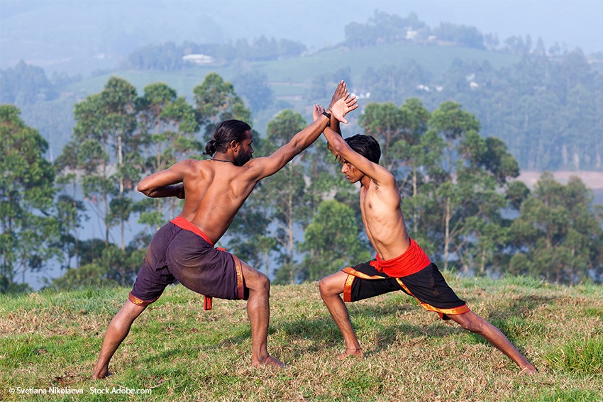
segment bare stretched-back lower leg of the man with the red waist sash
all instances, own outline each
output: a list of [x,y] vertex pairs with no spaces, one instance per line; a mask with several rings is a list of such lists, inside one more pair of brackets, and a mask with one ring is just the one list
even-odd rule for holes
[[519,353],[518,350],[509,342],[506,336],[498,328],[489,323],[487,320],[477,316],[472,311],[468,311],[464,314],[451,315],[451,320],[459,323],[465,330],[469,330],[472,333],[477,333],[485,337],[485,339],[498,350],[506,354],[511,360],[515,362],[521,369],[521,372],[526,374],[536,373],[536,367],[528,362],[523,354]]

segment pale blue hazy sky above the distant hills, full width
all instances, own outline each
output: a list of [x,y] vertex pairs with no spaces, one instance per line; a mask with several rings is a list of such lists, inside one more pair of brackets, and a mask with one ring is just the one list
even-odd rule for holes
[[375,10],[414,12],[431,28],[475,26],[500,43],[531,35],[533,45],[540,37],[546,48],[603,52],[603,0],[0,0],[0,67],[25,60],[60,69],[61,60],[125,57],[167,40],[265,35],[319,49],[341,43],[345,26],[367,23]]

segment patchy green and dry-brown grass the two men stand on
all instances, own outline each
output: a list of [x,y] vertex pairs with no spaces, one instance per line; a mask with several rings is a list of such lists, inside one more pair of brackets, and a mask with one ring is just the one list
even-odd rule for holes
[[[348,304],[367,358],[337,361],[343,341],[311,283],[272,287],[269,350],[289,369],[249,367],[243,301],[214,300],[204,311],[201,296],[170,286],[134,323],[114,375],[91,381],[104,331],[130,289],[87,289],[0,296],[0,400],[603,401],[602,286],[446,277],[538,367],[536,376],[402,292]],[[11,393],[18,387],[84,395]],[[100,393],[114,389],[150,395]]]

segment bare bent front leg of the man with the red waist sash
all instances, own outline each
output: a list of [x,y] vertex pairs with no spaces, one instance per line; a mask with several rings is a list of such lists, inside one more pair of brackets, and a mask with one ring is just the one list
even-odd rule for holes
[[347,278],[348,274],[343,271],[324,277],[319,282],[319,290],[328,312],[333,317],[345,341],[345,353],[341,357],[346,357],[348,354],[364,356],[358,338],[352,328],[348,308],[345,307],[343,299],[339,296],[343,293],[345,279]]

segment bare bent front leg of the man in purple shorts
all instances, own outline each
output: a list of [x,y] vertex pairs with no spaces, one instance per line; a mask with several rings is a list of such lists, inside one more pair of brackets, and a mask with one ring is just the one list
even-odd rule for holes
[[268,324],[270,323],[270,281],[261,272],[241,261],[245,286],[249,289],[247,316],[251,325],[251,365],[284,364],[270,356],[267,350]]

